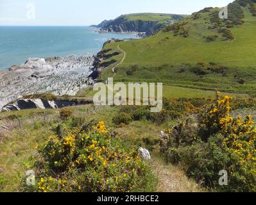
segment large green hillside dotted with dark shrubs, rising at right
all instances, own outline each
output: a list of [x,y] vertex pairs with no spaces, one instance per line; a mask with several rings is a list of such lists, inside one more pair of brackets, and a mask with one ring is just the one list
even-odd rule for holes
[[108,54],[120,54],[112,57],[117,62],[101,73],[101,79],[113,76],[113,67],[125,53],[123,63],[115,68],[115,81],[252,91],[256,88],[255,7],[252,1],[235,1],[228,6],[227,20],[218,18],[220,8],[205,8],[151,37],[107,44],[103,49],[112,49]]

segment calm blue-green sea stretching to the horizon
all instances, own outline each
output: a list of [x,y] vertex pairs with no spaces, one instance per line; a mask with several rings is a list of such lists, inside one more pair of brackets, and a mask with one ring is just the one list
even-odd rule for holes
[[33,57],[91,56],[110,38],[136,36],[98,33],[95,28],[86,26],[0,26],[0,70],[21,65]]

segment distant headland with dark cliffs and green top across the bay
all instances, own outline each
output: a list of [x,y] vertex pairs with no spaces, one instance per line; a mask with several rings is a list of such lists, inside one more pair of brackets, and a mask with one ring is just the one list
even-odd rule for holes
[[114,20],[104,20],[99,24],[102,32],[137,32],[151,35],[164,26],[183,19],[183,15],[139,13],[121,15]]

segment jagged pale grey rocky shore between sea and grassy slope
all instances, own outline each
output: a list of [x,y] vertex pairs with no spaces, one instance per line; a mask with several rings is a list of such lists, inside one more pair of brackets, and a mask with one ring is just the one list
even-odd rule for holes
[[96,56],[68,56],[29,58],[22,65],[13,65],[10,72],[0,73],[0,110],[28,94],[76,95],[97,78],[97,61]]

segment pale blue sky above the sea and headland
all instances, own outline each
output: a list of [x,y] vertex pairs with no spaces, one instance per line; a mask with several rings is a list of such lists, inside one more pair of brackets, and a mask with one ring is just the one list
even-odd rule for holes
[[191,14],[234,0],[0,0],[0,26],[89,26],[126,13]]

